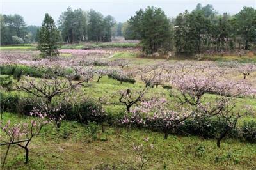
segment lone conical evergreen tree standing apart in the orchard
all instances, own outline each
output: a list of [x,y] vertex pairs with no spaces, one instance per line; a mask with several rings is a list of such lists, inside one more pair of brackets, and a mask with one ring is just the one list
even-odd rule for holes
[[46,13],[42,27],[38,32],[38,50],[42,57],[58,56],[60,47],[60,31],[58,31],[52,17]]

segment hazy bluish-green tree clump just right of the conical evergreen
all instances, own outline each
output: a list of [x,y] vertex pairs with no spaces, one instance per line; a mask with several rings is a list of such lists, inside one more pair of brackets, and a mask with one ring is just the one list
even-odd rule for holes
[[63,41],[68,43],[79,41],[110,42],[112,27],[116,24],[111,15],[104,17],[100,12],[81,9],[67,11],[60,15],[58,21]]

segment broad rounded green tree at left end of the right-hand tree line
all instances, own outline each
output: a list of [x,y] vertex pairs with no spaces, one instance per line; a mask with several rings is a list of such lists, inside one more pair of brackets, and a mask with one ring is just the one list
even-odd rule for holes
[[161,8],[148,6],[145,11],[139,10],[129,19],[129,25],[147,54],[153,54],[159,48],[170,50],[170,20]]

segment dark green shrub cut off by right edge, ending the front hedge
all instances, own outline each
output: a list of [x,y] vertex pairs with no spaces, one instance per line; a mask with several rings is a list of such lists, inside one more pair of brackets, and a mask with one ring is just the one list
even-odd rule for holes
[[243,139],[250,143],[256,143],[256,121],[244,121],[240,130]]

